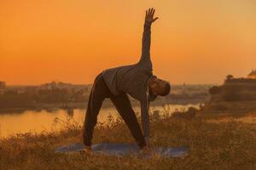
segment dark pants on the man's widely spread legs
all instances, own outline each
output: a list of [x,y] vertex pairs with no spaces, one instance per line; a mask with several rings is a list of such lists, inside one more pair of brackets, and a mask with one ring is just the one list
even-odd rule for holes
[[126,125],[129,127],[131,134],[136,139],[139,147],[143,148],[146,145],[141,127],[137,122],[135,112],[131,107],[130,99],[127,94],[113,95],[102,73],[96,77],[93,87],[90,91],[90,98],[88,101],[87,111],[84,119],[84,144],[91,145],[93,130],[97,122],[97,116],[102,107],[102,102],[105,98],[111,99],[113,105],[119,111],[120,116],[124,119]]

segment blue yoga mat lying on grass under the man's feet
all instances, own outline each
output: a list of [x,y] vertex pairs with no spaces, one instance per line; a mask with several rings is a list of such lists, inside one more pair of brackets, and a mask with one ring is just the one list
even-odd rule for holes
[[[55,153],[75,153],[84,149],[84,144],[68,144],[55,149]],[[127,154],[139,155],[137,144],[93,144],[93,153],[105,154],[109,156],[125,156]],[[188,147],[152,147],[155,154],[163,157],[183,157],[187,156]],[[149,156],[149,155],[148,155]]]

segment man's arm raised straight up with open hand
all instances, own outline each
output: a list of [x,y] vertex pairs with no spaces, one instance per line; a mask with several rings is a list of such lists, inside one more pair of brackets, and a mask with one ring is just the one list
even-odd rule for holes
[[142,47],[142,56],[140,63],[150,61],[150,42],[151,42],[151,24],[157,20],[158,17],[154,18],[154,8],[149,8],[146,11],[144,30],[143,30],[143,47]]

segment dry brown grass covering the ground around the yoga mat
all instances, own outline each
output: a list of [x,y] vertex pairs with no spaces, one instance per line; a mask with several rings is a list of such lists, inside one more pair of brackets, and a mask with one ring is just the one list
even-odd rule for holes
[[[98,125],[93,142],[134,142],[122,121]],[[16,134],[0,140],[0,169],[256,169],[256,125],[209,123],[165,116],[151,120],[151,142],[161,146],[189,146],[185,158],[155,156],[87,156],[55,154],[62,144],[80,142],[81,127],[67,123],[61,132]],[[108,124],[109,125],[109,124]]]

